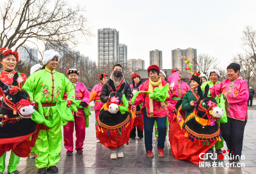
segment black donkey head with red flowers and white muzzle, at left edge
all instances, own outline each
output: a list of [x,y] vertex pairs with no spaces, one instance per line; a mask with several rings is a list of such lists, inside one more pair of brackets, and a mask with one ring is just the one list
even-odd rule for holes
[[18,73],[13,76],[12,85],[6,85],[0,81],[0,87],[4,91],[2,105],[0,108],[0,126],[5,123],[15,123],[23,118],[30,118],[35,112],[29,103],[28,92],[19,87]]

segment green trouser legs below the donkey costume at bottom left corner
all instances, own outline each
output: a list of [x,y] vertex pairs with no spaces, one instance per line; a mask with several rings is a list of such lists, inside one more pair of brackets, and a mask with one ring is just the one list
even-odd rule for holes
[[[6,152],[0,157],[0,172],[3,173],[5,169],[5,157],[6,157]],[[9,159],[9,165],[7,167],[8,172],[13,172],[17,169],[17,165],[20,162],[20,157],[14,154],[11,150],[11,156]]]

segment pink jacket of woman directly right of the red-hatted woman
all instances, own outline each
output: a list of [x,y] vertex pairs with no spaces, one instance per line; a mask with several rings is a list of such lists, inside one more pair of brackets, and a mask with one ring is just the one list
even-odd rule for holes
[[174,112],[175,105],[178,102],[177,98],[183,97],[188,90],[191,90],[188,86],[188,83],[185,83],[180,80],[177,86],[175,86],[172,90],[172,94],[170,94],[170,101],[168,101],[167,109],[168,111]]

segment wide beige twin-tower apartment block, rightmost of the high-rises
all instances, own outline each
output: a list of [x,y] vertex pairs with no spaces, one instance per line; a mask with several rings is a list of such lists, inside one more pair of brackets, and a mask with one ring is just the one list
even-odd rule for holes
[[188,67],[188,65],[184,62],[185,59],[182,58],[182,56],[184,56],[190,60],[189,64],[192,67],[192,71],[196,72],[196,55],[196,49],[194,48],[188,48],[186,50],[181,50],[180,48],[177,48],[175,50],[172,50],[172,69],[179,68],[181,71],[190,72],[189,70],[185,69],[185,67]]

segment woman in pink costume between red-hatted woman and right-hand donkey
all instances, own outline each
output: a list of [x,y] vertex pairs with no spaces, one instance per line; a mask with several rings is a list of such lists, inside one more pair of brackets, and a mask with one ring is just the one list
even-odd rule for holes
[[172,123],[172,120],[173,120],[173,115],[174,115],[174,109],[175,109],[175,105],[176,103],[178,102],[178,100],[183,97],[186,92],[188,90],[191,90],[190,87],[188,86],[188,83],[185,83],[183,81],[181,81],[181,71],[180,69],[176,68],[176,69],[173,69],[172,70],[172,73],[179,73],[179,82],[178,82],[178,85],[175,86],[172,90],[172,94],[170,95],[170,98],[172,98],[169,102],[168,102],[168,106],[167,106],[167,109],[168,109],[168,119],[169,119],[169,128],[170,128],[170,125]]

